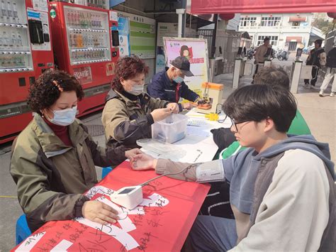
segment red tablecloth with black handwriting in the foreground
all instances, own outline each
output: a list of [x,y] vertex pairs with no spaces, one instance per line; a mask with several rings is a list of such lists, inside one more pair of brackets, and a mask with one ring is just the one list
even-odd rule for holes
[[[125,161],[97,185],[118,190],[121,187],[138,185],[155,176],[157,175],[153,170],[131,170],[130,164]],[[111,227],[123,231],[123,226],[119,223],[110,227],[93,228],[71,220],[47,222],[32,236],[13,248],[13,251],[18,248],[29,248],[34,243],[33,248],[30,248],[31,251],[50,251],[55,246],[56,249],[60,248],[62,244],[67,244],[67,251],[180,251],[209,186],[161,177],[142,190],[144,199],[150,199],[156,194],[162,196],[161,199],[167,200],[164,204],[155,202],[152,205],[144,205],[142,214],[128,213],[129,221],[133,222],[135,229],[127,231],[127,234],[138,243],[136,248],[130,249],[127,243],[125,245],[118,241],[116,236],[102,231],[102,228],[106,231]],[[99,192],[92,199],[98,197],[101,197]],[[108,196],[105,197],[109,199]]]

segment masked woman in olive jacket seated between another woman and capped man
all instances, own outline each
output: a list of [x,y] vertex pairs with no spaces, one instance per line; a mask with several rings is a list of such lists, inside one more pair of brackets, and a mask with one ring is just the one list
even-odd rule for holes
[[148,67],[138,57],[120,58],[115,72],[101,121],[108,146],[134,148],[138,139],[152,137],[151,125],[155,121],[179,113],[179,105],[144,92]]

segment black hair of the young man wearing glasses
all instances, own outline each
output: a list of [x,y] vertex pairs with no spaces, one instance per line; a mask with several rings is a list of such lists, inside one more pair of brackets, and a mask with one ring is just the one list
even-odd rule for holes
[[274,121],[276,131],[287,132],[296,116],[296,99],[280,85],[257,84],[235,90],[223,105],[223,111],[235,121]]

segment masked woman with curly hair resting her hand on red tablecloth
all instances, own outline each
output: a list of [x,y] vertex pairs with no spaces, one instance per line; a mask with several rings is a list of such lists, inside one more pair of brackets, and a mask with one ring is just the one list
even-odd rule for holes
[[75,119],[84,92],[75,77],[47,71],[30,87],[28,104],[35,112],[12,146],[11,175],[28,226],[86,217],[100,224],[115,222],[117,212],[82,195],[98,181],[95,165],[118,165],[138,149],[103,149]]

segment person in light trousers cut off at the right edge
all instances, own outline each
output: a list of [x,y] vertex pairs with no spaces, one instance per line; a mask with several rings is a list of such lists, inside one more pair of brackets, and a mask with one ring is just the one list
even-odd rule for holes
[[336,92],[336,45],[334,45],[334,48],[327,53],[327,71],[325,72],[325,80],[323,80],[322,85],[320,87],[320,92],[318,95],[320,97],[323,97],[323,94],[325,92],[325,89],[327,89],[327,85],[332,82],[330,97],[335,97]]

